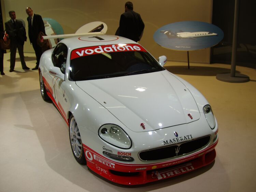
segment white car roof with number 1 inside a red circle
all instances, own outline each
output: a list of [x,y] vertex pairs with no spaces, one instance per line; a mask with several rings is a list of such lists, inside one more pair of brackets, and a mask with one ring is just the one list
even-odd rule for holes
[[117,35],[85,35],[85,36],[76,36],[72,38],[63,39],[60,42],[67,45],[70,50],[89,47],[89,46],[98,46],[98,45],[110,45],[110,44],[138,44],[135,41],[130,39],[117,36]]

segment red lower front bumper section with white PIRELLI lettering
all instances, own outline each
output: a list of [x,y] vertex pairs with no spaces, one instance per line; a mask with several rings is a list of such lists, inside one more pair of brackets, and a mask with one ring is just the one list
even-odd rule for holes
[[211,164],[215,157],[216,141],[212,146],[190,156],[151,164],[124,164],[105,158],[83,144],[87,166],[95,173],[124,185],[145,184],[194,171]]

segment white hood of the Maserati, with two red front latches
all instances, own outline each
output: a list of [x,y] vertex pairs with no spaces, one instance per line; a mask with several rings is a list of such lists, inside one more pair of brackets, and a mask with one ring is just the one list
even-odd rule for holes
[[77,81],[76,85],[134,132],[154,131],[200,118],[190,91],[167,70]]

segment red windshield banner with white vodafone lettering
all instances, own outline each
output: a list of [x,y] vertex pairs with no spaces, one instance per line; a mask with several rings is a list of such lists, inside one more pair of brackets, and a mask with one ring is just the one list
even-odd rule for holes
[[84,57],[87,55],[103,54],[103,53],[113,53],[122,51],[144,51],[146,50],[138,44],[115,44],[115,45],[99,45],[92,47],[83,47],[79,49],[74,49],[71,53],[71,60],[79,57]]

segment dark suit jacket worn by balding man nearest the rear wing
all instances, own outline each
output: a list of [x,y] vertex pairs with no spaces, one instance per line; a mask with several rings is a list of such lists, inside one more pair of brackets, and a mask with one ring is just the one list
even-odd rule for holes
[[29,24],[30,17],[27,17],[27,20],[28,20],[29,41],[30,43],[32,42],[36,43],[38,34],[40,33],[40,31],[42,31],[45,34],[44,21],[41,15],[34,14],[32,27],[30,27],[30,24]]

